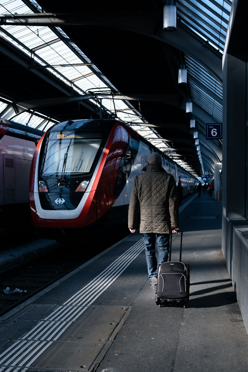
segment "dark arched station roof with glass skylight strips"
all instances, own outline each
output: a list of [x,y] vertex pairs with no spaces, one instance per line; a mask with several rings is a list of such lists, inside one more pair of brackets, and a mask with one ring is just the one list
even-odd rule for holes
[[[177,24],[167,31],[163,10],[171,4]],[[206,139],[206,125],[222,123],[231,6],[231,0],[3,0],[0,119],[44,131],[68,119],[116,117],[191,173],[213,174],[222,139]],[[182,66],[186,83],[178,83]]]

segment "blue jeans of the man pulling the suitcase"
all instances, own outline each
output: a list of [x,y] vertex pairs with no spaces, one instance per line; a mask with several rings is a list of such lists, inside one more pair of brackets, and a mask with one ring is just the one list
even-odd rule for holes
[[[157,237],[158,260],[155,256],[155,243]],[[143,234],[145,243],[145,257],[148,269],[148,278],[151,282],[153,276],[158,276],[158,266],[167,262],[170,248],[170,234]]]

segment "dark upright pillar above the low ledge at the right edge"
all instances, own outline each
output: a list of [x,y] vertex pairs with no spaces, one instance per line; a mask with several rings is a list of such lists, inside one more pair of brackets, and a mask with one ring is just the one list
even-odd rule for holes
[[226,55],[223,73],[223,207],[245,216],[246,54]]

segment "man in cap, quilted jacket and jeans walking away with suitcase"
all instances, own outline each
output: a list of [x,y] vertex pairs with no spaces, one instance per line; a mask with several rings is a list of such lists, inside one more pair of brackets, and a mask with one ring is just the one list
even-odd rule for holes
[[[157,285],[158,266],[167,262],[170,232],[178,234],[179,208],[175,179],[162,168],[161,155],[152,153],[135,177],[128,210],[128,227],[143,234],[150,287]],[[157,239],[158,260],[155,256]]]

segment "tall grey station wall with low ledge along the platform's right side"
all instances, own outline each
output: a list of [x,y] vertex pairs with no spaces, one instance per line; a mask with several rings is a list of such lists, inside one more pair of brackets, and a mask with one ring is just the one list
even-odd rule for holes
[[245,0],[234,0],[223,54],[222,252],[248,331],[248,83]]

